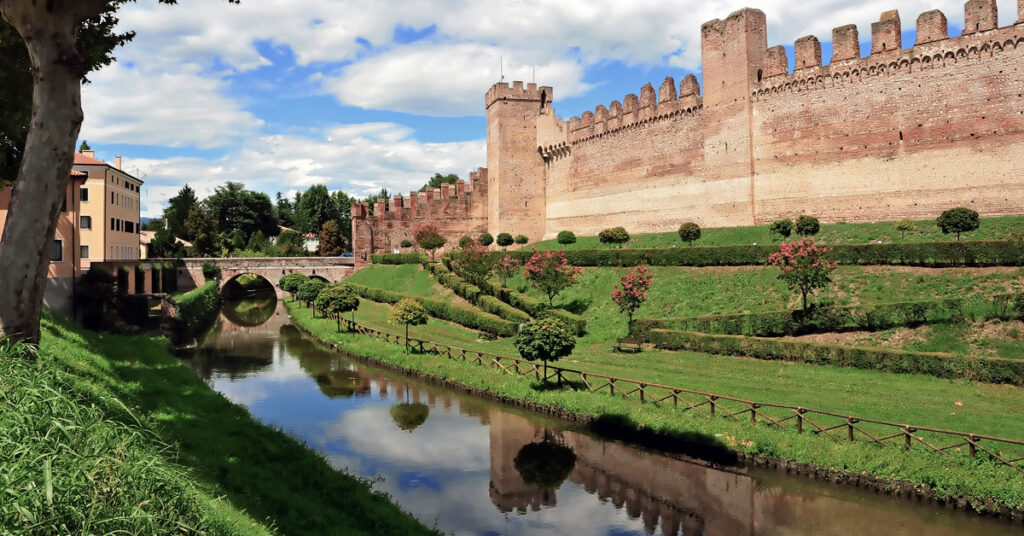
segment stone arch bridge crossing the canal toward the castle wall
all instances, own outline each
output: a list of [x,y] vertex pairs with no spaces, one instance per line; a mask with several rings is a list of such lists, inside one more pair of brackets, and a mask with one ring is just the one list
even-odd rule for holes
[[[189,290],[206,282],[203,277],[203,264],[212,262],[220,267],[220,286],[243,274],[255,274],[270,282],[278,297],[284,297],[278,288],[278,282],[285,274],[298,273],[309,277],[318,277],[328,282],[342,281],[351,276],[355,270],[355,259],[352,257],[251,257],[251,258],[150,258],[139,260],[106,260],[93,262],[111,274],[117,274],[118,269],[125,267],[133,273],[135,266],[148,269],[153,265],[170,263],[177,272],[178,289]],[[135,278],[129,278],[129,293],[144,294],[153,292],[153,276],[150,270],[144,270],[145,280],[141,287],[135,286]]]

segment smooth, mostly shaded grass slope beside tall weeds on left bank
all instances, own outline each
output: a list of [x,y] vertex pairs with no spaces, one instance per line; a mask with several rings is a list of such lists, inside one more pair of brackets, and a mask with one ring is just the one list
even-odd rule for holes
[[81,388],[103,394],[126,423],[139,419],[143,434],[173,445],[169,452],[200,490],[224,497],[218,504],[242,508],[274,532],[435,534],[365,481],[253,420],[172,356],[162,339],[96,334],[50,319],[43,324],[41,349],[71,371]]

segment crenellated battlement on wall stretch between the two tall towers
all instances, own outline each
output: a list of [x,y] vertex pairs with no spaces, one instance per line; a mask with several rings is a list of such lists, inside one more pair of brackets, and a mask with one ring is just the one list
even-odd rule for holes
[[621,132],[649,121],[695,115],[701,107],[700,84],[695,76],[686,75],[679,83],[677,92],[676,81],[670,76],[666,77],[656,92],[653,85],[644,84],[640,88],[639,97],[635,93],[630,93],[623,101],[625,105],[612,100],[607,108],[598,105],[593,112],[584,112],[580,117],[569,118],[567,121],[569,143],[574,145]]

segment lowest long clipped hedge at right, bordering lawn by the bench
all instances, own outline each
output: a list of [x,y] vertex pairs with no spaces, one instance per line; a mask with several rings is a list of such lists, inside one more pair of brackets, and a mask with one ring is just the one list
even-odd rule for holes
[[665,349],[687,349],[766,361],[792,361],[883,370],[898,374],[927,374],[939,378],[967,378],[990,383],[1024,385],[1024,361],[1000,358],[964,357],[665,329],[651,330],[649,341]]

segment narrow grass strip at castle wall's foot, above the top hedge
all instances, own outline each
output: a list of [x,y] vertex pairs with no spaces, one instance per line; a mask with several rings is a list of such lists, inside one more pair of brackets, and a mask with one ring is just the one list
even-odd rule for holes
[[[681,223],[681,222],[680,222]],[[1024,216],[1001,216],[981,218],[981,226],[974,233],[966,233],[963,240],[1001,240],[1011,234],[1024,230]],[[572,231],[572,230],[568,230]],[[629,230],[627,230],[629,231]],[[877,223],[822,223],[821,232],[815,237],[828,244],[864,244],[867,242],[942,242],[955,240],[954,236],[943,235],[935,224],[934,219],[913,222],[913,231],[908,231],[905,237],[896,231],[892,221]],[[752,225],[742,228],[717,228],[701,230],[700,240],[694,246],[733,246],[742,244],[771,244],[777,241],[768,233],[768,225]],[[538,249],[562,249],[562,245],[554,240],[535,244]],[[667,248],[686,247],[679,240],[676,232],[637,234],[631,237],[626,247],[629,248]],[[597,237],[577,237],[577,243],[565,246],[567,249],[602,249],[607,248]]]

